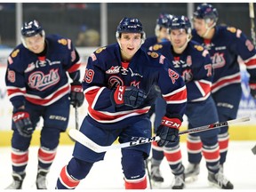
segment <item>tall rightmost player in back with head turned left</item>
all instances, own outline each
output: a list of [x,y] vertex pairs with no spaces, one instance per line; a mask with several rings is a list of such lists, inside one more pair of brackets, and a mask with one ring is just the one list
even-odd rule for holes
[[[219,121],[236,118],[239,102],[242,97],[241,76],[238,55],[244,60],[250,76],[252,97],[256,97],[256,51],[252,42],[244,33],[233,27],[218,26],[218,12],[212,4],[200,4],[194,12],[192,31],[193,40],[202,44],[210,53],[214,77],[212,98],[218,110]],[[220,167],[226,162],[228,152],[228,126],[220,128]],[[199,174],[201,160],[200,140],[188,137],[187,176]],[[186,177],[187,177],[186,176]]]

